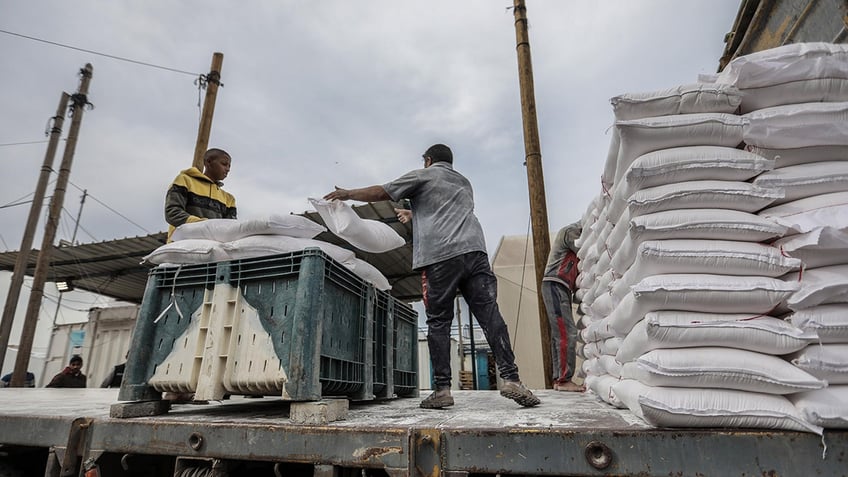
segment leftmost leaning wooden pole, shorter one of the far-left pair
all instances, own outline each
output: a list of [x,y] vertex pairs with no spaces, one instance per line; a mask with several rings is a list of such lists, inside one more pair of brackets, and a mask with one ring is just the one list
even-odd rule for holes
[[68,98],[70,98],[68,93],[62,92],[62,97],[59,98],[59,107],[56,109],[56,115],[52,118],[53,127],[50,128],[49,132],[50,140],[47,142],[47,152],[44,154],[41,174],[38,176],[38,182],[35,185],[35,195],[32,199],[32,205],[29,208],[29,217],[27,218],[26,228],[24,228],[24,236],[21,239],[21,248],[18,249],[18,256],[15,259],[15,269],[12,272],[9,293],[6,295],[6,305],[3,308],[3,319],[0,321],[0,370],[3,369],[3,363],[6,360],[9,335],[12,332],[12,324],[15,321],[15,312],[18,308],[18,299],[20,298],[21,288],[23,287],[24,277],[26,276],[26,266],[29,260],[29,253],[32,250],[35,228],[38,226],[41,206],[44,204],[44,193],[47,190],[50,172],[53,171],[56,149],[59,145],[59,139],[62,136],[62,124],[65,121],[65,111],[68,109]]

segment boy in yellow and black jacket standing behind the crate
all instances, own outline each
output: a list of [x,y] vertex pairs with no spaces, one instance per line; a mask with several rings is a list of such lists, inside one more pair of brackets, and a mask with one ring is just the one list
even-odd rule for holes
[[203,155],[203,172],[189,167],[171,183],[165,197],[168,242],[174,229],[206,219],[235,219],[236,199],[222,189],[230,173],[232,158],[223,149],[212,148]]

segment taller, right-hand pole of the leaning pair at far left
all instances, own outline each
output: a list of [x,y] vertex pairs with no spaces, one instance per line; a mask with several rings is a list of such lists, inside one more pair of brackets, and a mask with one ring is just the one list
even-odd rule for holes
[[65,201],[65,190],[68,186],[68,176],[71,173],[71,164],[74,159],[74,150],[77,146],[80,124],[83,112],[88,103],[88,85],[94,68],[90,63],[80,70],[79,90],[71,96],[71,127],[68,130],[68,140],[65,144],[65,153],[62,156],[62,164],[59,166],[59,179],[53,197],[50,199],[50,212],[47,224],[44,227],[44,237],[41,242],[41,250],[38,253],[38,262],[32,278],[32,291],[29,295],[26,318],[21,331],[21,343],[18,347],[18,357],[15,360],[15,370],[12,374],[10,386],[21,387],[26,379],[27,368],[29,368],[29,357],[32,353],[32,341],[35,337],[35,328],[38,324],[38,313],[41,310],[41,300],[44,297],[44,282],[47,281],[47,272],[50,265],[50,256],[53,253],[53,239],[56,237],[56,229],[59,226],[59,217],[62,214],[62,205]]

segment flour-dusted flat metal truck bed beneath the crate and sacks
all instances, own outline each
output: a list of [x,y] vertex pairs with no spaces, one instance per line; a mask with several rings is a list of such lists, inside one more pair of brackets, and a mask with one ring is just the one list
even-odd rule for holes
[[[345,420],[297,425],[289,419],[290,405],[269,397],[235,396],[174,405],[160,416],[110,418],[117,392],[2,389],[0,443],[79,449],[83,461],[131,454],[299,463],[313,466],[314,475],[338,475],[333,469],[339,468],[389,475],[848,473],[846,431],[827,431],[822,438],[772,430],[658,429],[591,393],[541,390],[536,408],[521,408],[497,391],[456,391],[456,405],[445,410],[420,409],[418,398],[351,402]],[[76,436],[70,446],[69,436]]]

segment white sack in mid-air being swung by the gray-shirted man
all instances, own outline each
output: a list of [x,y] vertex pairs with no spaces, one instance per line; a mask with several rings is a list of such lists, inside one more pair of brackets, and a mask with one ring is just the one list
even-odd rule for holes
[[345,202],[309,199],[330,232],[354,247],[371,253],[383,253],[406,244],[393,228],[378,220],[363,219]]

